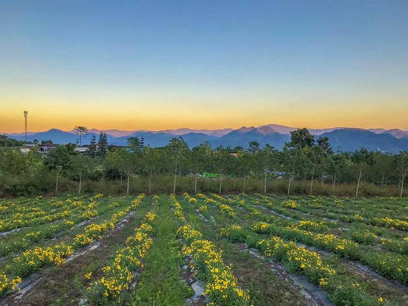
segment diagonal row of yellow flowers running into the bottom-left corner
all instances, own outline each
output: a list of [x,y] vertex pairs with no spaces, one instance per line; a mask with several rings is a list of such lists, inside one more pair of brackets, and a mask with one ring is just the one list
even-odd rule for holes
[[28,275],[47,265],[60,266],[65,263],[65,258],[72,254],[75,249],[92,243],[96,238],[101,239],[102,236],[109,230],[112,230],[115,224],[125,215],[136,209],[144,197],[144,194],[140,194],[132,201],[130,206],[113,214],[108,221],[100,224],[87,225],[84,233],[75,236],[74,241],[70,245],[60,243],[52,247],[37,246],[24,251],[21,256],[14,258],[12,266],[8,265],[5,267],[5,272],[0,272],[0,275],[14,275],[10,278],[7,276],[3,277],[3,282],[1,282],[2,279],[0,278],[0,289],[3,288],[3,290],[0,291],[0,296],[8,290],[14,290],[16,284],[21,281],[22,276]]

